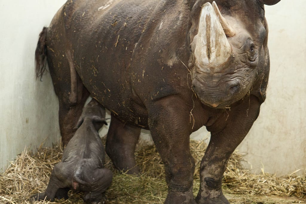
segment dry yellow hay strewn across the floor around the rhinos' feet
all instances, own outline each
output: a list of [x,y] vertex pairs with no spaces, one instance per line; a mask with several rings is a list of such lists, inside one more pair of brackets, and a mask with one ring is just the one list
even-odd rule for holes
[[[191,152],[196,161],[194,195],[199,189],[200,161],[206,149],[203,141],[191,141]],[[11,162],[0,174],[0,203],[31,203],[29,197],[44,191],[52,168],[62,157],[63,148],[39,147],[37,153],[28,149]],[[131,176],[118,172],[106,158],[106,167],[114,173],[113,183],[106,191],[107,203],[163,203],[167,195],[164,167],[154,146],[139,145],[136,161],[141,176]],[[306,175],[276,177],[262,173],[253,175],[241,167],[242,156],[232,155],[223,179],[223,191],[231,203],[273,204],[306,203]],[[52,203],[52,202],[35,202]],[[83,203],[82,194],[69,191],[68,200],[54,203]]]

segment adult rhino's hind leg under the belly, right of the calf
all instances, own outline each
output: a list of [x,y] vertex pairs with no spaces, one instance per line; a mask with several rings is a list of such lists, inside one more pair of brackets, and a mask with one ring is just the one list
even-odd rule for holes
[[117,169],[129,174],[138,174],[134,152],[138,143],[141,128],[127,125],[111,116],[110,127],[106,138],[106,153]]

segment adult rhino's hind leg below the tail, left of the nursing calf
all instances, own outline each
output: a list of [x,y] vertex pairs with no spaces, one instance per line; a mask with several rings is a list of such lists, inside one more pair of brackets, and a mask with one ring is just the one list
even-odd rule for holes
[[[48,46],[48,65],[54,91],[58,96],[62,142],[67,145],[75,133],[73,128],[82,113],[89,92],[75,70],[71,54],[62,49],[63,44],[63,42],[57,42]],[[50,50],[60,51],[56,55]]]

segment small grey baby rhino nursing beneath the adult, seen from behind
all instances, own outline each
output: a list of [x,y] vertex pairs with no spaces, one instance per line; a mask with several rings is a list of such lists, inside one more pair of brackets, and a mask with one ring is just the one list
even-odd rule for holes
[[112,172],[103,168],[105,151],[98,130],[107,124],[105,108],[92,99],[76,125],[76,133],[67,144],[62,161],[54,166],[47,189],[34,200],[68,198],[69,189],[84,192],[84,201],[103,203],[103,192],[112,182]]

